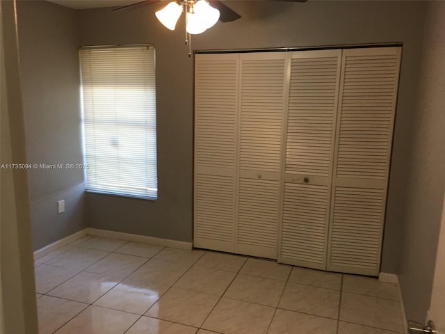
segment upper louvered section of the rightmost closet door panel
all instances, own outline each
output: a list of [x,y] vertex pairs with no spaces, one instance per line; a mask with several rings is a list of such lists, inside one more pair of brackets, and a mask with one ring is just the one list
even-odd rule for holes
[[399,56],[394,52],[373,56],[345,52],[336,175],[385,180]]

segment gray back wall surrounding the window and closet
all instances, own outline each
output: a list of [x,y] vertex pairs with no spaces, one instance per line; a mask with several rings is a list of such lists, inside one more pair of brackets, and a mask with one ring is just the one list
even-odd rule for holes
[[[423,1],[229,1],[242,15],[193,37],[193,49],[248,49],[403,42],[382,271],[395,273],[423,32]],[[111,12],[81,10],[81,45],[156,46],[159,200],[87,194],[90,226],[191,241],[193,230],[193,58],[184,22],[175,32],[157,22],[163,4]]]

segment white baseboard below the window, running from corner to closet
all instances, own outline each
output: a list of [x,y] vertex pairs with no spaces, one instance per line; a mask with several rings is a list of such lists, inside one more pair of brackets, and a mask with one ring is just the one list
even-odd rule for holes
[[99,230],[97,228],[86,228],[86,230],[87,234],[95,235],[97,237],[134,241],[134,242],[140,242],[141,244],[151,244],[156,246],[165,246],[165,247],[179,248],[185,250],[191,250],[193,248],[193,244],[187,241],[161,239],[155,237],[148,237],[146,235]]

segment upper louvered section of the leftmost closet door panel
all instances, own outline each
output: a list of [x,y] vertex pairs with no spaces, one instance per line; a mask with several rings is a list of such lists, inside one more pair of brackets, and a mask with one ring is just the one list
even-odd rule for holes
[[195,165],[234,168],[238,108],[236,57],[200,54],[195,71]]

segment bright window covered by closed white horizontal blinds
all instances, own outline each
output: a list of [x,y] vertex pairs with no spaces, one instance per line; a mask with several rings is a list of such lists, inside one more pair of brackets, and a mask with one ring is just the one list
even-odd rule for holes
[[157,198],[151,46],[80,50],[88,191]]

